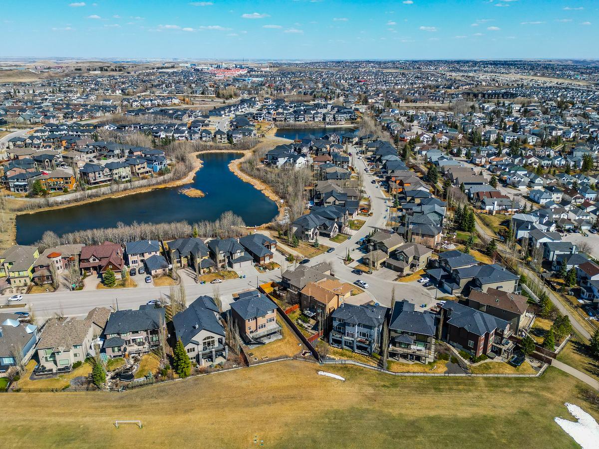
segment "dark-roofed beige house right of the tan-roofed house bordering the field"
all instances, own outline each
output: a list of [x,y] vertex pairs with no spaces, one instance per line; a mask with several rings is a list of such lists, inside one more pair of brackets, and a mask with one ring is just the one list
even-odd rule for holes
[[[104,351],[108,357],[147,354],[163,344],[166,329],[164,308],[140,305],[139,310],[117,310],[104,329]],[[162,335],[161,335],[162,334]]]

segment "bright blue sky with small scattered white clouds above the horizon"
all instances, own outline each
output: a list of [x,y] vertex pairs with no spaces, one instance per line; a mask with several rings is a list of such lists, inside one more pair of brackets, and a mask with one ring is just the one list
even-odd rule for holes
[[597,0],[1,3],[4,57],[599,57]]

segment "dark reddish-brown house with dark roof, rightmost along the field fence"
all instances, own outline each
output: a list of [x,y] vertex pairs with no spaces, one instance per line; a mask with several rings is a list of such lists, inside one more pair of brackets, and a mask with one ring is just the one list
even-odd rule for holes
[[[454,301],[441,306],[437,338],[474,357],[491,352],[501,355],[501,346],[510,333],[510,323],[491,314]],[[513,348],[507,341],[506,347],[510,346]]]

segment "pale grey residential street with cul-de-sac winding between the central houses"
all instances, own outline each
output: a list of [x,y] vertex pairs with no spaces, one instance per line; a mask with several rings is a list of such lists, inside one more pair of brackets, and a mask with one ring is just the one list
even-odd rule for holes
[[[355,151],[355,148],[353,149]],[[358,160],[358,169],[364,174],[364,160]],[[364,174],[365,193],[371,198],[371,211],[373,216],[366,219],[366,223],[350,240],[347,240],[335,247],[334,253],[325,253],[314,257],[309,265],[327,261],[332,263],[332,271],[340,280],[353,283],[358,279],[364,280],[369,284],[368,293],[376,298],[382,305],[390,306],[392,290],[395,286],[395,298],[407,299],[417,306],[425,304],[430,307],[435,302],[435,289],[424,289],[421,284],[396,283],[391,280],[381,278],[381,272],[374,272],[372,275],[362,274],[360,276],[353,274],[352,268],[344,265],[343,258],[349,248],[354,259],[359,259],[358,246],[356,240],[365,237],[371,232],[373,227],[383,227],[385,225],[385,216],[388,215],[386,198],[377,189],[375,184],[371,184],[374,177],[371,174]],[[220,295],[222,296],[223,307],[228,308],[232,301],[232,293],[241,292],[251,287],[256,287],[256,282],[265,283],[267,281],[280,280],[280,270],[274,270],[266,274],[260,274],[254,277],[244,279],[228,280],[219,284]],[[133,289],[117,290],[83,290],[81,292],[55,292],[41,293],[37,295],[25,295],[24,304],[31,305],[32,310],[38,318],[52,317],[55,313],[66,316],[81,317],[87,314],[93,307],[116,307],[117,301],[119,308],[137,308],[151,299],[161,298],[162,295],[168,296],[168,287],[137,287]],[[213,286],[211,284],[191,284],[186,285],[187,302],[200,295],[212,295]],[[441,296],[441,295],[439,295]],[[0,299],[1,302],[4,300]]]

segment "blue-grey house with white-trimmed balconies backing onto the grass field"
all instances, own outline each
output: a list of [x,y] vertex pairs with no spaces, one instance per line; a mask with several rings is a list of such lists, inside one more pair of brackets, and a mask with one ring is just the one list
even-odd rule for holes
[[331,315],[329,344],[371,355],[380,348],[386,314],[380,305],[341,304]]

